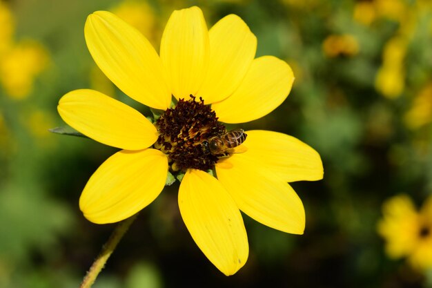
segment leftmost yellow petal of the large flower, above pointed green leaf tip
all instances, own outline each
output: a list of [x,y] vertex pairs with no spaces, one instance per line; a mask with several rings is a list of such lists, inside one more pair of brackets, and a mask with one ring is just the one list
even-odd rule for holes
[[109,146],[140,150],[157,140],[155,126],[144,115],[95,90],[67,93],[57,110],[69,126]]

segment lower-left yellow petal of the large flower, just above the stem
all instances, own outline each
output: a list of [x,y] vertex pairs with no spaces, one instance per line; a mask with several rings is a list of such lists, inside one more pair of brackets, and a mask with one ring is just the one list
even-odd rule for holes
[[159,150],[119,151],[90,177],[79,208],[97,224],[124,220],[157,198],[167,172],[168,160]]

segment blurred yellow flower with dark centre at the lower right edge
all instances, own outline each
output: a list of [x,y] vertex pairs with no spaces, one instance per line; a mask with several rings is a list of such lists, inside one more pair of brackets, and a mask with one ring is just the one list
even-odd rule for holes
[[432,267],[432,196],[416,211],[407,195],[387,200],[378,222],[378,233],[386,240],[390,258],[407,257],[415,269]]

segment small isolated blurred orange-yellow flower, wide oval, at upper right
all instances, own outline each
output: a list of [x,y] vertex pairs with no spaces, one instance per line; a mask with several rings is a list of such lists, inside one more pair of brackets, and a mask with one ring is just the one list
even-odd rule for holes
[[358,53],[359,46],[352,35],[329,35],[324,39],[322,50],[328,57],[353,56]]

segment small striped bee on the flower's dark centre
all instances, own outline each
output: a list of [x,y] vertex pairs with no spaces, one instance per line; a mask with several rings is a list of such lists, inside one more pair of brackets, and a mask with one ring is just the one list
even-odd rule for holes
[[222,136],[212,137],[202,144],[204,149],[213,155],[234,153],[234,148],[242,144],[246,136],[243,129],[234,129]]

